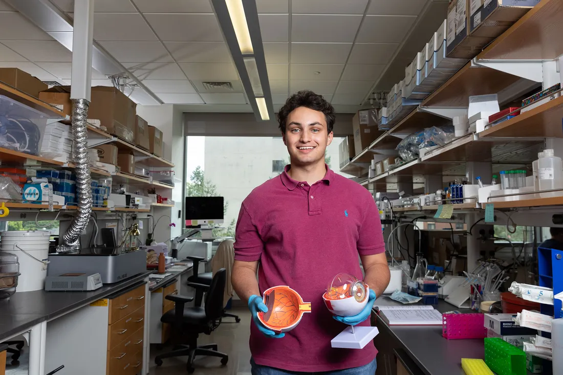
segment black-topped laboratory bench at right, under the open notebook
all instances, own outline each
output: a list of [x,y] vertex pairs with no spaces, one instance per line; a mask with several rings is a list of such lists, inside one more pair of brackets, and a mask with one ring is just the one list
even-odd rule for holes
[[[374,304],[403,306],[387,296],[377,298]],[[458,309],[444,300],[439,300],[434,308],[441,313],[453,310],[475,312]],[[375,313],[372,313],[372,325],[379,330],[373,340],[378,350],[376,375],[404,374],[403,369],[403,372],[397,372],[397,363],[408,369],[406,373],[410,375],[463,374],[462,358],[485,358],[482,339],[447,340],[442,337],[441,325],[387,325]]]

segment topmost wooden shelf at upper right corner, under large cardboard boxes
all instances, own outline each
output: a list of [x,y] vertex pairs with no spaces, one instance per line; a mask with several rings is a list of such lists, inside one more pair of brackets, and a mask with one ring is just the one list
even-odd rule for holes
[[563,55],[563,2],[543,0],[489,44],[478,60],[554,60]]

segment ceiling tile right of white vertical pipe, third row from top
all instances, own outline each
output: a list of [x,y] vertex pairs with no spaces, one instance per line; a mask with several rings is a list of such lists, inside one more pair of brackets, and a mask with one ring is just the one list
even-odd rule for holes
[[160,42],[100,42],[121,63],[172,63]]

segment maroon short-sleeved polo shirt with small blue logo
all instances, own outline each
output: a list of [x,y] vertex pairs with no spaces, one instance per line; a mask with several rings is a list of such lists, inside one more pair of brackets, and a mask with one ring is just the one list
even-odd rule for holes
[[[297,372],[366,365],[377,354],[372,344],[361,350],[330,347],[346,325],[332,318],[322,296],[338,273],[363,279],[358,255],[385,251],[378,209],[368,190],[328,168],[312,186],[293,180],[288,170],[243,201],[235,260],[260,260],[260,292],[288,285],[311,302],[311,313],[278,339],[264,336],[251,322],[252,358],[259,365]],[[369,324],[368,319],[360,325]]]

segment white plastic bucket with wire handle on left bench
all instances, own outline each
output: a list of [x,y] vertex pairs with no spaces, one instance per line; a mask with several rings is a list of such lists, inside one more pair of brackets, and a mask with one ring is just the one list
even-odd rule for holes
[[17,292],[39,291],[45,287],[49,255],[47,230],[10,230],[0,233],[0,251],[17,255],[20,262],[20,277]]

